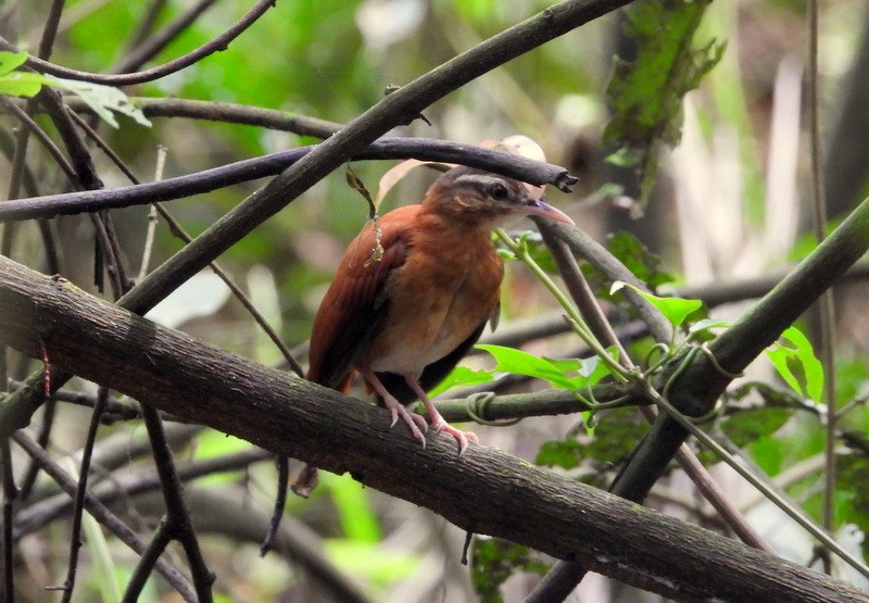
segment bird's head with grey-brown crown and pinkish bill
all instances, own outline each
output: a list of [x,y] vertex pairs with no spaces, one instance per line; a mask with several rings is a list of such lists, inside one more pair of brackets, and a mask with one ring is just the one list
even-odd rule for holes
[[493,226],[516,214],[574,224],[567,214],[533,197],[521,183],[464,166],[454,167],[434,180],[423,205],[465,222]]

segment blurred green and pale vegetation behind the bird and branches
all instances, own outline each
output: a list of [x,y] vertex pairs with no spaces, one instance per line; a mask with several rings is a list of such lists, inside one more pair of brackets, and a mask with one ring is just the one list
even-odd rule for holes
[[[588,4],[600,4],[597,10],[604,13],[621,3]],[[80,100],[86,92],[66,89],[63,101],[84,117],[84,124],[77,124],[79,129],[71,135],[59,127],[63,123],[56,114],[60,104],[52,101],[51,90],[63,89],[61,86],[47,86],[33,102],[3,97],[0,150],[4,159],[0,161],[8,168],[0,171],[0,188],[8,192],[8,208],[14,208],[14,199],[101,188],[83,174],[97,175],[105,188],[130,184],[108,153],[95,146],[87,134],[88,124],[129,172],[146,183],[316,145],[380,102],[388,86],[413,81],[551,3],[281,0],[273,8],[267,2],[260,4],[262,16],[226,48],[221,45],[219,52],[182,70],[127,84],[112,79],[111,74],[136,73],[184,56],[249,15],[254,2],[0,3],[5,50],[11,45],[52,65],[109,76],[103,84],[122,89],[133,99],[133,106],[150,120],[143,125],[141,117],[137,122],[113,113],[118,122],[113,128],[87,110]],[[799,259],[816,252],[811,215],[819,197],[827,198],[826,213],[830,224],[836,225],[866,196],[867,163],[860,158],[869,125],[859,101],[869,88],[864,83],[869,61],[862,60],[869,49],[866,7],[851,1],[823,4],[814,35],[807,8],[814,4],[804,2],[718,2],[708,7],[697,2],[692,5],[694,13],[677,13],[667,2],[663,7],[634,4],[632,18],[612,12],[533,48],[427,105],[423,113],[430,124],[394,120],[388,135],[469,143],[515,134],[529,136],[550,162],[579,177],[572,192],[550,187],[549,194],[584,233],[658,293],[703,300],[704,310],[694,314],[690,324],[706,317],[735,323],[747,316],[756,300]],[[807,76],[813,40],[818,48],[820,146],[813,143],[813,112],[807,100],[814,89],[806,85],[813,79]],[[626,63],[614,62],[616,54]],[[27,63],[20,72],[52,74],[51,65],[39,62]],[[80,74],[55,75],[81,79]],[[695,91],[682,97],[695,86]],[[101,95],[104,90],[97,91],[98,100],[104,100]],[[173,99],[205,104],[172,104]],[[257,113],[257,109],[272,112]],[[70,158],[75,177],[65,174],[34,129],[23,125],[27,115],[33,116],[34,129],[45,131]],[[71,138],[85,142],[76,147]],[[818,149],[820,154],[815,155]],[[613,153],[615,159],[605,161]],[[91,167],[85,165],[88,161],[92,161]],[[354,161],[352,167],[374,191],[394,163]],[[643,169],[638,172],[638,166]],[[300,361],[304,360],[319,298],[368,211],[358,192],[347,185],[343,172],[336,169],[317,181],[274,217],[250,228],[217,259]],[[432,178],[425,169],[414,171],[387,197],[383,210],[416,202]],[[237,178],[209,192],[179,196],[164,208],[197,237],[269,180]],[[822,194],[814,194],[816,189]],[[53,215],[49,212],[42,217]],[[105,222],[95,222],[84,213],[50,221],[0,217],[5,221],[3,255],[46,274],[61,274],[112,301],[127,288],[128,284],[119,282],[119,290],[113,291],[116,269],[105,250],[100,260],[104,263],[98,262],[109,266],[100,271],[103,286],[95,284],[95,261],[99,260],[95,259],[95,224]],[[142,250],[151,244],[147,242],[149,224],[156,228],[148,266],[176,257],[184,246],[164,217],[155,223],[149,217],[144,204],[113,210],[111,217],[102,214],[102,219],[110,221],[108,236],[117,241],[119,261],[133,281],[141,280]],[[829,231],[832,227],[823,224],[824,219],[820,228]],[[98,226],[98,231],[103,227]],[[511,233],[527,227],[517,224]],[[550,274],[565,271],[564,257],[550,251],[539,237],[527,243],[531,256]],[[52,246],[56,257],[50,251]],[[662,357],[659,350],[650,354],[655,326],[642,310],[638,314],[637,301],[609,294],[614,273],[607,273],[594,257],[582,255],[577,246],[571,249],[630,357],[641,365],[646,359]],[[852,253],[859,256],[862,252],[852,246]],[[148,266],[141,268],[142,276],[150,271]],[[831,274],[844,272],[847,262],[830,266]],[[744,378],[730,384],[717,412],[703,423],[705,432],[739,465],[748,467],[758,480],[802,508],[864,561],[864,535],[869,528],[865,276],[866,266],[857,264],[847,274],[847,286],[836,288],[834,306],[832,302],[821,304],[820,312],[801,318],[798,325],[814,342],[814,353],[811,346],[792,331],[776,348],[778,356],[761,355],[746,368]],[[569,276],[565,280],[574,293]],[[824,288],[807,282],[806,305]],[[792,305],[798,303],[781,305],[778,314],[789,315]],[[549,359],[589,354],[565,326],[557,301],[520,261],[507,262],[502,306],[501,326],[495,335],[487,336],[489,343],[521,348]],[[0,312],[7,311],[11,313],[11,306],[0,307]],[[275,343],[211,271],[190,278],[147,317],[264,365],[291,370]],[[711,341],[720,361],[718,352],[727,351],[715,348],[714,341],[723,325],[711,326],[701,323],[696,341]],[[13,330],[0,321],[0,339],[21,348],[10,335]],[[778,335],[765,332],[763,337],[774,340]],[[758,336],[757,341],[763,338]],[[766,343],[755,353],[750,352],[752,343],[746,340],[735,346],[745,350],[743,364],[747,364]],[[9,391],[16,391],[28,375],[39,372],[46,357],[53,364],[52,349],[48,343],[42,354],[30,353],[35,360],[8,349],[2,375],[4,382],[9,380]],[[516,361],[505,370],[508,363],[498,360],[496,382],[478,389],[499,394],[551,393],[552,379],[546,384],[528,378],[544,376],[539,367],[533,368],[533,361]],[[40,405],[29,427],[11,444],[7,440],[3,449],[4,588],[9,600],[41,601],[47,587],[70,580],[70,544],[75,541],[71,530],[78,529],[72,518],[81,515],[46,473],[51,460],[51,466],[76,480],[84,451],[92,451],[91,493],[102,497],[144,543],[165,513],[156,467],[166,460],[155,462],[148,444],[149,438],[153,441],[155,437],[156,428],[149,423],[155,416],[149,419],[148,411],[140,412],[135,401],[121,392],[106,398],[90,381],[76,378],[63,385],[61,370],[76,372],[75,362],[70,362],[71,366],[61,365],[54,372],[55,382],[50,385],[62,389],[53,402]],[[734,360],[726,366],[739,373],[741,362]],[[478,352],[466,365],[492,369],[495,361]],[[673,361],[665,368],[676,366]],[[576,377],[576,366],[556,368]],[[507,372],[524,376],[503,375]],[[36,382],[43,382],[40,379]],[[557,378],[554,385],[564,386]],[[470,392],[468,388],[450,390],[442,398],[457,399]],[[580,393],[585,393],[584,384]],[[618,397],[610,393],[610,398]],[[672,398],[693,395],[677,388]],[[564,399],[564,394],[558,398]],[[484,445],[568,479],[607,489],[650,429],[634,407],[637,397],[627,407],[593,414],[578,413],[587,406],[571,394],[566,399],[569,404],[563,403],[557,416],[543,410],[537,399],[521,399],[531,405],[521,411],[521,423],[475,426],[475,430]],[[5,407],[11,407],[12,400],[3,401]],[[599,400],[612,401],[605,392]],[[102,411],[95,413],[95,406]],[[504,418],[518,412],[490,416]],[[831,416],[835,420],[829,420]],[[350,473],[352,467],[341,475],[320,472],[320,485],[308,499],[291,495],[274,551],[261,558],[260,544],[280,483],[274,456],[209,426],[176,422],[174,416],[163,418],[165,438],[185,481],[197,541],[207,569],[216,575],[215,599],[518,601],[536,586],[540,589],[540,576],[552,567],[570,574],[570,566],[558,565],[557,560],[532,548],[484,536],[475,537],[468,553],[470,564],[465,567],[461,563],[463,529],[425,507],[363,487],[365,476],[357,481]],[[90,429],[96,434],[92,445],[89,424],[99,425]],[[4,426],[9,436],[7,429]],[[393,434],[395,439],[403,436],[399,430]],[[50,458],[40,460],[33,450],[26,451],[21,438],[38,441]],[[694,438],[690,442],[720,483],[730,512],[744,515],[768,550],[858,588],[869,586],[865,567],[860,573],[819,547],[816,538],[721,463],[720,456],[696,444]],[[347,445],[355,450],[353,442]],[[300,457],[317,458],[318,452],[310,454],[313,456]],[[637,454],[642,458],[642,452]],[[648,505],[763,548],[763,542],[753,541],[734,526],[736,519],[713,508],[697,493],[687,474],[669,463],[671,454],[659,456],[666,466],[646,467],[652,481],[658,470],[665,473],[652,487]],[[291,479],[301,467],[301,463],[291,463]],[[402,476],[391,478],[400,483]],[[162,488],[166,490],[165,480]],[[644,492],[616,491],[631,500],[645,498]],[[88,517],[85,514],[75,589],[56,596],[115,600],[125,590],[130,595],[135,592],[130,585],[137,582],[140,571],[148,577],[151,566]],[[502,520],[507,533],[509,523],[509,518]],[[185,540],[185,533],[180,537],[181,544],[173,543],[163,560],[187,571],[196,547]],[[196,586],[206,588],[198,581],[197,564],[192,565]],[[150,577],[139,600],[182,596],[163,576]],[[549,576],[547,580],[553,574]],[[631,583],[589,575],[570,596],[575,601],[657,596],[638,591],[638,585]],[[567,585],[563,588],[571,590],[569,580]],[[651,592],[679,595],[663,587],[641,586]],[[536,592],[543,596],[540,590]],[[836,592],[828,594],[843,599],[847,594]]]

